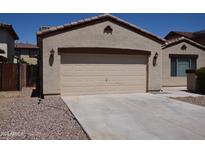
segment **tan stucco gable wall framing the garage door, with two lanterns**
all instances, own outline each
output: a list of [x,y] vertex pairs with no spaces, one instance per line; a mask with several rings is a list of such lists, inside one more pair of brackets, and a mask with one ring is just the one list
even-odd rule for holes
[[[112,34],[104,34],[106,26],[113,29]],[[40,40],[40,39],[39,39]],[[151,51],[149,57],[148,89],[160,90],[161,87],[161,44],[128,30],[111,21],[63,32],[42,40],[43,93],[60,93],[60,55],[62,47],[106,47],[121,49],[140,49]],[[54,63],[49,65],[50,51],[54,51]],[[153,56],[158,52],[157,65],[152,64]]]

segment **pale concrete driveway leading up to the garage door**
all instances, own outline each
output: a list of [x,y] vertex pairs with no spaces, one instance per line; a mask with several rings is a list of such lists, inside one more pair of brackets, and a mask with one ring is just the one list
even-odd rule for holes
[[62,98],[91,139],[205,139],[205,107],[149,93]]

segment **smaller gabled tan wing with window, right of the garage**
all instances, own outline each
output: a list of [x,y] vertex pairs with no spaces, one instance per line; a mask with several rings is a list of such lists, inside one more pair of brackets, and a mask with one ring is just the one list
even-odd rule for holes
[[184,36],[162,49],[162,86],[186,86],[186,70],[205,67],[205,46]]

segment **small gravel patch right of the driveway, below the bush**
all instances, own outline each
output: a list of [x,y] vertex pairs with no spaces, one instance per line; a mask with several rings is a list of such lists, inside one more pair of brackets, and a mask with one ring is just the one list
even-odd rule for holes
[[173,99],[177,99],[177,100],[180,100],[180,101],[184,101],[184,102],[188,102],[188,103],[196,104],[196,105],[200,105],[200,106],[205,106],[205,96],[177,97],[177,98],[173,98]]

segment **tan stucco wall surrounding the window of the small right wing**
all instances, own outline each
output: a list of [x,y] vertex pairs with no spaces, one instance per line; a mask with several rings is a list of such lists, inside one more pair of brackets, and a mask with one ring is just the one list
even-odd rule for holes
[[[186,45],[186,50],[181,50],[181,46]],[[182,42],[162,50],[162,86],[186,86],[186,77],[171,76],[171,59],[169,54],[196,54],[197,68],[205,66],[205,51],[191,44]]]

